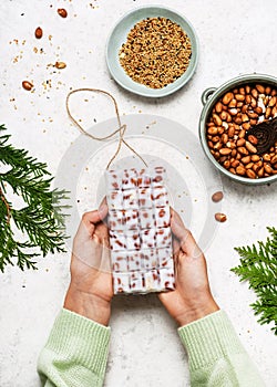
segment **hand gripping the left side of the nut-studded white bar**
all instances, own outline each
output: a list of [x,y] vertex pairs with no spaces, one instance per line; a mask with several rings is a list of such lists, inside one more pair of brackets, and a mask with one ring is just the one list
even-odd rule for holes
[[107,227],[102,221],[107,206],[83,215],[73,241],[71,283],[64,307],[107,325],[113,296]]

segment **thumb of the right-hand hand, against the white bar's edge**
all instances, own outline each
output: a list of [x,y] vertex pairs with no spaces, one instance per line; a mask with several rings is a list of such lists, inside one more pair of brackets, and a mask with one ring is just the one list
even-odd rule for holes
[[171,228],[173,234],[178,239],[183,252],[195,258],[202,254],[192,232],[185,228],[179,215],[173,208],[171,208]]

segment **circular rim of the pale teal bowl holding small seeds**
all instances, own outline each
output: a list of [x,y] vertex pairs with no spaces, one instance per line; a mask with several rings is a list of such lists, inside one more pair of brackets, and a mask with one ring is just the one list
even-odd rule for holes
[[[158,88],[158,91],[161,91],[158,94],[148,94],[147,92],[147,88],[145,86],[145,90],[135,90],[126,84],[124,84],[124,82],[122,82],[121,80],[119,80],[113,71],[113,66],[110,62],[110,59],[109,59],[109,48],[110,48],[110,41],[111,41],[111,38],[114,33],[114,31],[116,30],[116,28],[127,18],[130,18],[132,14],[141,11],[141,10],[147,10],[147,9],[156,9],[156,10],[165,10],[165,11],[168,11],[173,14],[176,14],[178,18],[183,19],[184,22],[191,29],[191,32],[192,32],[192,35],[194,36],[194,40],[195,40],[195,44],[194,44],[194,55],[195,55],[195,61],[194,63],[191,65],[191,73],[184,79],[183,82],[181,82],[177,86],[173,87],[172,90],[166,90],[166,87],[162,87],[162,88]],[[186,32],[186,31],[185,31]],[[193,27],[193,24],[191,23],[191,21],[185,17],[183,15],[183,13],[178,12],[177,10],[175,9],[172,9],[170,7],[164,7],[164,6],[161,6],[161,4],[148,4],[148,6],[141,6],[141,7],[135,7],[133,8],[132,10],[127,11],[126,13],[124,13],[115,23],[114,25],[112,27],[109,35],[107,35],[107,39],[106,39],[106,43],[105,43],[105,60],[106,60],[106,65],[107,65],[107,69],[109,69],[109,72],[110,74],[112,75],[112,77],[114,79],[114,81],[121,85],[123,88],[125,88],[126,91],[131,92],[131,93],[134,93],[134,94],[137,94],[137,95],[141,95],[141,96],[145,96],[145,97],[150,97],[150,98],[161,98],[161,97],[164,97],[164,96],[168,96],[175,92],[177,92],[179,88],[182,88],[186,83],[188,83],[188,81],[193,77],[193,75],[195,74],[195,70],[196,70],[196,66],[198,64],[198,56],[199,56],[199,40],[198,40],[198,36],[196,34],[196,31]],[[186,73],[186,72],[185,72]],[[184,74],[185,74],[184,73]],[[183,74],[183,75],[184,75]],[[126,76],[129,76],[126,74]],[[182,76],[182,75],[181,75]],[[130,77],[131,79],[131,77]],[[132,80],[132,79],[131,79]],[[133,81],[134,82],[134,81]],[[174,82],[172,83],[174,84]],[[152,90],[152,88],[150,88]]]

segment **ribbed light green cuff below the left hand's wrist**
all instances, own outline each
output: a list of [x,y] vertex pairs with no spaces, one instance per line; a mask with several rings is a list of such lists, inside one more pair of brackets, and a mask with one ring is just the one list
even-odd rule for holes
[[62,308],[45,348],[104,377],[110,336],[110,327]]

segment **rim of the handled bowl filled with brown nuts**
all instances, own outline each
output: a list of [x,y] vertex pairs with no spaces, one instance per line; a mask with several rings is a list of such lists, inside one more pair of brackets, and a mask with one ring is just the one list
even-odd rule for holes
[[223,94],[227,93],[228,90],[235,88],[238,85],[244,85],[246,83],[255,83],[255,82],[260,82],[260,83],[268,82],[268,83],[275,84],[275,86],[277,87],[276,76],[269,75],[269,74],[261,74],[261,73],[250,73],[250,74],[242,74],[236,77],[233,77],[226,81],[225,83],[223,83],[218,87],[206,88],[203,92],[202,96],[204,95],[205,92],[207,93],[208,90],[211,90],[211,93],[213,91],[213,94],[211,94],[211,96],[207,97],[206,103],[204,103],[203,101],[204,106],[201,113],[199,125],[198,125],[198,135],[202,144],[202,148],[205,155],[208,157],[209,161],[214,165],[214,167],[216,167],[222,174],[229,177],[232,180],[238,181],[245,185],[249,185],[249,186],[260,186],[260,185],[275,182],[277,181],[277,175],[260,178],[260,179],[250,179],[243,176],[234,175],[230,171],[228,171],[226,168],[224,168],[209,151],[209,147],[207,145],[207,139],[206,139],[206,121],[215,103],[218,101],[218,98]]

